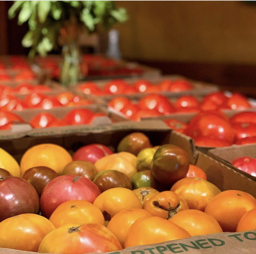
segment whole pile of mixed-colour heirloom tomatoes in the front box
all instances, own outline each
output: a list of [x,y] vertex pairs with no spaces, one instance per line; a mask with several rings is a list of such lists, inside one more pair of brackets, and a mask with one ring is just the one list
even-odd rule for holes
[[123,248],[256,228],[256,199],[220,191],[181,148],[143,133],[113,153],[101,144],[70,154],[28,149],[20,164],[0,149],[0,248],[43,253]]

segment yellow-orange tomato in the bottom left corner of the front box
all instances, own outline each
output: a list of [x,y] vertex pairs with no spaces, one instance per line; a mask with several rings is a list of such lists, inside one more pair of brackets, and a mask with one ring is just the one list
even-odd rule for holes
[[16,215],[0,222],[0,247],[37,252],[43,238],[54,229],[41,215]]

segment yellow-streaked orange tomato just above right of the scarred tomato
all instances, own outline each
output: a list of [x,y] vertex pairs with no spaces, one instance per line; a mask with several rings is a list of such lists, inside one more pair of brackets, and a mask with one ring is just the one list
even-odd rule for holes
[[220,193],[211,182],[196,177],[183,178],[176,182],[171,191],[178,194],[188,204],[189,209],[204,211],[210,200]]

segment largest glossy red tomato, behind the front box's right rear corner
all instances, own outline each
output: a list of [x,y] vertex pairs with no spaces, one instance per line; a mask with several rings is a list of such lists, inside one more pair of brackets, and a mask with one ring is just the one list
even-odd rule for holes
[[229,145],[233,144],[235,138],[231,124],[215,113],[205,113],[201,114],[201,117],[192,118],[186,129],[186,135],[195,140],[202,137],[224,140]]

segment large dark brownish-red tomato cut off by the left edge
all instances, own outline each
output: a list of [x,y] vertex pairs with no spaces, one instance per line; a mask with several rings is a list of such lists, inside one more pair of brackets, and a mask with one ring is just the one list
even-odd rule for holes
[[16,176],[0,178],[0,203],[0,221],[23,213],[39,213],[35,188]]

